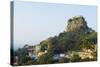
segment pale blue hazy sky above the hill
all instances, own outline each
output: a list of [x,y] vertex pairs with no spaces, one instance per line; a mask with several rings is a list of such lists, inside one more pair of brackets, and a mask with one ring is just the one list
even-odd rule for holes
[[85,17],[97,31],[97,7],[14,1],[14,45],[39,44],[65,30],[73,16]]

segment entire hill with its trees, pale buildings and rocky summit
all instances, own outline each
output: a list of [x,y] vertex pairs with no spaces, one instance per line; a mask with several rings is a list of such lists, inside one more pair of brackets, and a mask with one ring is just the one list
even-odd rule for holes
[[[34,35],[34,34],[33,34]],[[13,65],[53,64],[97,60],[97,32],[83,16],[68,20],[66,30],[36,46],[13,51]],[[33,57],[33,54],[35,55]]]

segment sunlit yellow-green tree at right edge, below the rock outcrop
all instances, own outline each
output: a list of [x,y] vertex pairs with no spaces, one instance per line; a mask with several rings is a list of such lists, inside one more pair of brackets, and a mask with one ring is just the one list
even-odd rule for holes
[[81,48],[88,48],[88,49],[94,49],[92,45],[97,44],[97,33],[91,32],[87,35],[81,35],[80,36],[80,47]]

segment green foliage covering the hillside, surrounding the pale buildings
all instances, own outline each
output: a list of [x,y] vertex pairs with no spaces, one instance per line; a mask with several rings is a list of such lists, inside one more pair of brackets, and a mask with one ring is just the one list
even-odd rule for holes
[[94,59],[81,59],[78,55],[74,55],[71,59],[61,58],[59,60],[53,60],[55,54],[66,53],[68,51],[81,51],[83,48],[94,50],[94,46],[97,44],[97,33],[91,32],[88,34],[80,34],[77,32],[63,32],[59,36],[48,38],[42,41],[40,51],[47,50],[48,53],[38,57],[33,61],[28,57],[28,51],[25,48],[19,48],[15,51],[15,56],[19,57],[18,65],[28,64],[51,64],[51,63],[65,63],[65,62],[79,62],[79,61],[94,61],[97,60],[96,52],[93,53]]

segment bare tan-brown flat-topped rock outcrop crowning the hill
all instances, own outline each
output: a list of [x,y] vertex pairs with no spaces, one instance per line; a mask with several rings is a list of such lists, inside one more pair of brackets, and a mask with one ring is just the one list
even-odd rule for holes
[[68,25],[66,28],[67,32],[70,31],[83,31],[87,32],[89,27],[87,26],[87,22],[83,16],[74,16],[68,20]]

